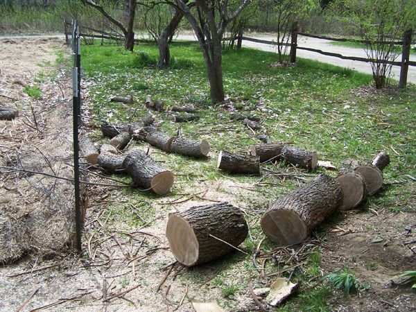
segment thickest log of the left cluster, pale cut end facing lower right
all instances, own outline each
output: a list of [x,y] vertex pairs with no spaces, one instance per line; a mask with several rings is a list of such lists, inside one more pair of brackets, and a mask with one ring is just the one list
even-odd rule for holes
[[173,173],[159,166],[141,150],[133,150],[123,162],[123,168],[137,187],[144,187],[158,195],[168,193],[173,185]]

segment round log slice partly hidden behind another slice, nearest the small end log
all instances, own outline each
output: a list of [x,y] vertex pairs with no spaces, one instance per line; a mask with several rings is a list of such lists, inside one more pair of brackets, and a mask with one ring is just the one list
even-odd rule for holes
[[340,167],[340,174],[358,173],[362,175],[367,184],[368,195],[373,195],[383,186],[383,173],[376,166],[368,162],[347,159]]

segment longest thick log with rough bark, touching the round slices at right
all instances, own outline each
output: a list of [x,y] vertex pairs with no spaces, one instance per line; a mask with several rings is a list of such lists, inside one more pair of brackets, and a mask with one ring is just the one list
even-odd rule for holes
[[300,243],[342,202],[340,184],[328,175],[318,175],[301,189],[272,202],[261,218],[261,229],[278,245]]

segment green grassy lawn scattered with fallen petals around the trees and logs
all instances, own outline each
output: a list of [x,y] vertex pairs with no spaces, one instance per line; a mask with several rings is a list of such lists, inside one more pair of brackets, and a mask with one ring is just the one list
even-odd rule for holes
[[[211,144],[211,157],[196,160],[162,152],[152,154],[177,175],[169,197],[189,193],[189,189],[195,192],[201,181],[232,179],[256,187],[261,180],[261,183],[271,185],[267,188],[257,187],[257,198],[241,196],[242,205],[251,207],[248,209],[248,219],[254,220],[250,223],[252,238],[243,243],[243,248],[250,255],[234,254],[213,264],[223,266],[212,282],[223,293],[223,306],[229,304],[229,295],[239,288],[247,288],[247,276],[257,274],[252,266],[251,254],[262,237],[259,222],[256,222],[261,211],[268,200],[296,189],[300,182],[295,179],[280,180],[276,175],[266,174],[266,171],[263,177],[227,175],[216,169],[216,156],[220,150],[247,153],[250,144],[260,143],[256,135],[267,134],[272,141],[293,142],[300,148],[315,150],[320,159],[329,160],[337,167],[345,159],[372,159],[380,150],[386,150],[390,154],[391,164],[385,168],[385,182],[403,182],[407,181],[406,175],[416,175],[414,85],[404,91],[393,89],[381,94],[363,95],[357,88],[372,83],[369,75],[302,59],[295,67],[277,67],[274,53],[241,49],[225,51],[223,54],[227,101],[213,106],[209,102],[209,85],[202,55],[196,44],[173,44],[173,67],[166,70],[155,67],[157,47],[152,44],[139,44],[134,53],[124,51],[121,46],[83,46],[82,55],[84,79],[88,82],[89,92],[87,108],[96,118],[109,123],[128,121],[137,105],[144,107],[144,100],[149,94],[167,107],[166,112],[156,114],[156,121],[165,132],[173,134],[177,132],[177,124],[172,121],[169,107],[184,103],[196,103],[199,106],[200,120],[182,123],[182,135],[207,139]],[[132,105],[110,102],[111,96],[130,94],[136,101]],[[145,116],[145,109],[138,111],[139,116]],[[230,121],[232,112],[261,117],[263,130],[254,135],[243,123]],[[94,123],[100,124],[92,121]],[[101,137],[98,129],[94,130],[93,137],[96,141],[107,141]],[[265,164],[263,168],[290,171],[284,163]],[[306,176],[306,180],[318,173],[336,176],[334,171],[318,168],[311,176]],[[129,181],[127,176],[117,178]],[[396,211],[406,209],[410,187],[406,183],[390,184],[383,197],[368,201],[365,207],[388,207]],[[151,202],[157,196],[130,189],[123,192],[130,200],[144,203],[147,219],[156,216]],[[403,205],[390,205],[397,201]],[[108,224],[116,227],[123,222],[125,215],[116,205],[111,209],[112,216]],[[129,222],[131,226],[143,225],[139,218]],[[275,247],[265,241],[262,248],[273,250]],[[227,261],[237,263],[235,265],[240,266],[240,274],[232,274]],[[311,250],[305,261],[308,263],[306,271],[295,272],[292,279],[303,281],[303,285],[308,286],[320,278],[319,248]],[[266,270],[272,272],[276,267],[270,261]],[[198,274],[200,272],[203,270],[198,271]],[[204,280],[191,274],[182,278],[201,285]],[[298,311],[299,306],[307,311],[329,311],[329,297],[329,286],[322,284],[290,300],[279,311]]]

